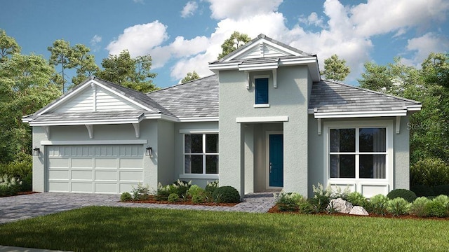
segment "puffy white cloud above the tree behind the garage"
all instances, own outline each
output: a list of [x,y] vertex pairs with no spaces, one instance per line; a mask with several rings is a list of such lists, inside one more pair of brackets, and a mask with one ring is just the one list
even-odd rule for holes
[[109,54],[118,55],[122,50],[129,50],[131,57],[147,55],[152,48],[161,45],[168,39],[166,26],[158,20],[134,25],[123,30],[119,38],[107,45]]

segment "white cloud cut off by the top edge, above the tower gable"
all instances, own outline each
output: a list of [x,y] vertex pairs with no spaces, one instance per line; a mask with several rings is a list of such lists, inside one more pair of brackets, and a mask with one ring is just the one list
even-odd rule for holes
[[208,0],[212,18],[217,20],[245,18],[248,15],[267,14],[278,10],[282,0]]

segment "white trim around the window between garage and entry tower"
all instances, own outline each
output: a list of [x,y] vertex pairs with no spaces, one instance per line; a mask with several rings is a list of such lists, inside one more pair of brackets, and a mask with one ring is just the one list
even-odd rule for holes
[[[208,132],[199,132],[198,130],[180,130],[182,134],[182,174],[180,174],[181,179],[218,179],[218,174],[220,174],[220,167],[218,174],[206,174],[206,156],[207,155],[217,155],[220,158],[220,152],[218,153],[206,153],[206,134],[218,134],[218,130],[206,130]],[[186,134],[202,134],[203,135],[203,153],[186,153],[185,152],[185,135]],[[185,155],[202,155],[203,156],[203,173],[202,174],[192,174],[185,172]]]

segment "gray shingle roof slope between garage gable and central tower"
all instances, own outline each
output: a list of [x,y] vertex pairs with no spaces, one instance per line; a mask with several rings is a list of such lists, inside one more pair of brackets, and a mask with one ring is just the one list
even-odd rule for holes
[[218,116],[218,77],[199,78],[147,94],[178,118]]

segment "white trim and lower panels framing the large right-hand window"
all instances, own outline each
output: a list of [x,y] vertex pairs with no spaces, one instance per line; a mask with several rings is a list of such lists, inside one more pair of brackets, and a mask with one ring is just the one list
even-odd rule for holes
[[[367,127],[384,127],[386,129],[386,153],[380,153],[386,155],[386,164],[385,164],[385,179],[360,179],[358,178],[358,167],[356,167],[356,178],[358,179],[348,179],[348,178],[330,178],[330,150],[329,150],[329,141],[330,141],[330,129],[348,129],[348,128],[367,128]],[[331,185],[333,187],[337,187],[339,185],[348,185],[350,188],[354,188],[357,192],[363,193],[363,195],[370,195],[370,193],[364,193],[363,187],[367,186],[382,186],[386,192],[388,192],[394,185],[394,127],[393,120],[361,120],[361,121],[339,121],[339,122],[324,122],[323,123],[323,157],[324,164],[323,169],[324,178],[323,182],[325,185]],[[351,153],[348,153],[351,154]],[[353,154],[363,154],[363,153],[353,153]],[[369,153],[376,154],[376,153]],[[356,158],[358,157],[356,155]],[[357,162],[356,162],[357,163]],[[342,188],[344,189],[344,187]]]

